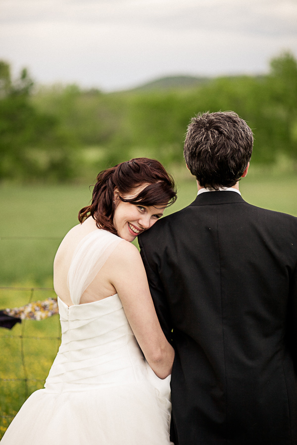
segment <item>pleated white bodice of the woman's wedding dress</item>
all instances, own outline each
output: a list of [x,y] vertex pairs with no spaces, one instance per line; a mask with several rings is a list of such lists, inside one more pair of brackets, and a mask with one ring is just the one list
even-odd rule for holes
[[58,298],[58,306],[62,341],[47,391],[85,391],[144,378],[145,359],[117,294],[70,307]]

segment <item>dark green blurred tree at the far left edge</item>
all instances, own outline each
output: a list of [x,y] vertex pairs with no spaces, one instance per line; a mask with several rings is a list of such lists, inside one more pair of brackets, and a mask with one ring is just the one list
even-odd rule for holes
[[12,80],[9,65],[0,62],[0,180],[73,176],[69,139],[54,115],[31,103],[33,86],[26,69]]

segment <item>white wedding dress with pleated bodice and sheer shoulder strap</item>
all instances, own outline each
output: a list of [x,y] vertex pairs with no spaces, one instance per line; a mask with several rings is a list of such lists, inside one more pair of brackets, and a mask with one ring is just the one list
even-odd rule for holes
[[1,445],[168,445],[170,376],[146,362],[118,295],[79,304],[121,238],[95,230],[68,273],[74,306],[58,298],[62,341],[45,389],[33,393]]

